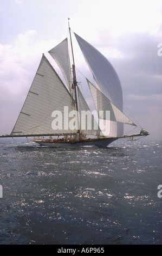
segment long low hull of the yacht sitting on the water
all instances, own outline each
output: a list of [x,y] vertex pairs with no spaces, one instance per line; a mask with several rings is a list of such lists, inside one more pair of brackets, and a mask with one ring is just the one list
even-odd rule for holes
[[41,141],[40,139],[32,139],[32,141],[49,148],[64,148],[64,147],[84,147],[96,146],[106,148],[110,143],[116,141],[118,138],[104,138],[104,139],[86,139],[85,141],[62,142],[62,141]]

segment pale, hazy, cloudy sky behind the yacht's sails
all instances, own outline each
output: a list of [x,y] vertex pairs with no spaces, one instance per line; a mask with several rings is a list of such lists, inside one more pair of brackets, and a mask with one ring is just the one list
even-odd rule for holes
[[161,0],[0,0],[0,135],[10,134],[42,53],[72,31],[113,65],[124,105],[161,140]]

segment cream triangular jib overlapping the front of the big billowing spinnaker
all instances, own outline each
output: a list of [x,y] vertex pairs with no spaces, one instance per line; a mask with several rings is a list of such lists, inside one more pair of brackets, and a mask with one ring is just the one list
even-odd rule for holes
[[[108,120],[136,126],[124,113],[120,111],[105,95],[103,95],[88,79],[87,83],[95,103],[100,112],[100,119],[106,120],[106,111],[109,111]],[[102,112],[101,112],[102,111]]]

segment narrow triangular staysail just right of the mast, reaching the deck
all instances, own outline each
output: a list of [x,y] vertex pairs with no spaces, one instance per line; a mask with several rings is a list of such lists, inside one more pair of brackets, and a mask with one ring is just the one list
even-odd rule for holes
[[94,118],[93,113],[90,111],[85,98],[83,97],[79,87],[77,87],[79,99],[79,113],[80,113],[80,126],[83,135],[100,135],[98,123]]

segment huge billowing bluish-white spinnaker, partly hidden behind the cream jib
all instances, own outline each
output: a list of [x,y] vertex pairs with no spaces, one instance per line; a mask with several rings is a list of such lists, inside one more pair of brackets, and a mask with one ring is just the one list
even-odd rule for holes
[[[74,33],[75,34],[75,33]],[[101,92],[122,111],[122,88],[118,75],[113,66],[96,48],[75,34],[83,56],[93,74],[96,86]],[[124,125],[116,122],[111,123],[112,137],[123,135]]]

